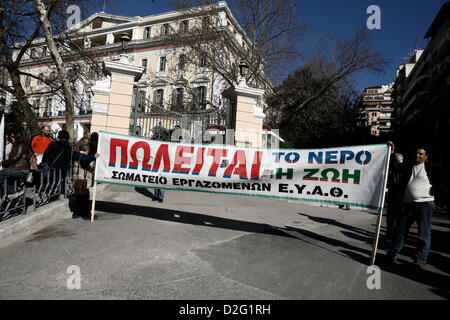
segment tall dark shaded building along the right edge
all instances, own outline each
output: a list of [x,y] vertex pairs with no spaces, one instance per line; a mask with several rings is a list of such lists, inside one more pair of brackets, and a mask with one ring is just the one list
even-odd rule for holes
[[411,150],[425,146],[434,161],[450,157],[450,2],[445,3],[425,34],[425,49],[397,69],[393,88],[396,132]]

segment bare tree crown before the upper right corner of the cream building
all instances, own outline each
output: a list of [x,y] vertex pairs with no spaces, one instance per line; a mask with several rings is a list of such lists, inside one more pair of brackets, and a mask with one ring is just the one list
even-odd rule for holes
[[[294,42],[303,25],[295,20],[295,4],[288,0],[228,1],[233,15],[226,16],[217,3],[205,0],[176,0],[174,5],[190,22],[168,25],[161,33],[168,39],[168,55],[182,50],[185,70],[203,68],[214,87],[225,90],[239,83],[239,62],[249,67],[247,83],[252,87],[273,88],[270,77],[282,69],[281,61],[298,55]],[[219,14],[219,12],[221,12]],[[185,24],[184,24],[185,23]],[[164,27],[163,27],[164,28]],[[288,45],[288,43],[290,45]],[[171,61],[172,59],[167,59]],[[190,87],[190,79],[180,77],[179,64],[168,66],[172,76],[156,79],[184,85],[191,105],[198,105],[198,92]],[[187,72],[185,73],[187,74]],[[219,109],[220,96],[205,101],[212,109]]]

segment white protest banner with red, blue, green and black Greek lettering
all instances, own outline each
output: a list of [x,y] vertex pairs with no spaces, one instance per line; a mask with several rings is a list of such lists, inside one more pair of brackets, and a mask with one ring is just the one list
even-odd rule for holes
[[258,149],[147,140],[100,132],[95,181],[380,210],[386,145]]

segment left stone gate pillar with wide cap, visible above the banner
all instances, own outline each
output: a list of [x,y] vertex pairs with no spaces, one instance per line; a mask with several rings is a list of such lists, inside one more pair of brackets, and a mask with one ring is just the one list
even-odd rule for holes
[[126,56],[122,56],[120,61],[105,61],[104,69],[109,78],[97,81],[92,88],[91,132],[103,130],[128,135],[133,85],[142,76],[144,68],[134,66]]

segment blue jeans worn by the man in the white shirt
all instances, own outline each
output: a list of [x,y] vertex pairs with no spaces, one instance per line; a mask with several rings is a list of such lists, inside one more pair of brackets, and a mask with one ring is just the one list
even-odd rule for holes
[[419,228],[419,238],[415,258],[418,261],[426,262],[431,248],[431,217],[436,209],[434,201],[403,205],[405,210],[398,217],[390,253],[398,254],[402,250],[409,228],[416,221]]

